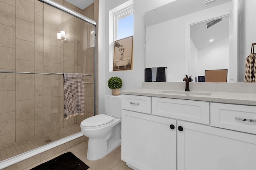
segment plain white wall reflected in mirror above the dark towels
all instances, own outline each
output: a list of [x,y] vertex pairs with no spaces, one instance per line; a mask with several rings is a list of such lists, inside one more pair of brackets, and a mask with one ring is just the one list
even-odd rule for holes
[[186,18],[175,18],[146,27],[146,68],[168,67],[166,74],[172,75],[175,82],[183,81],[185,74],[188,74],[184,69]]

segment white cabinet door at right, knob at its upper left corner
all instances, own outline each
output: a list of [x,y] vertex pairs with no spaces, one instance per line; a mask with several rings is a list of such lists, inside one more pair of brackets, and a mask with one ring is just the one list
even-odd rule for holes
[[178,170],[256,170],[256,135],[177,121]]

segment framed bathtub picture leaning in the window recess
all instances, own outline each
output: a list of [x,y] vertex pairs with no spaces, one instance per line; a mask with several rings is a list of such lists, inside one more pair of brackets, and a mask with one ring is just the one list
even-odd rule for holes
[[132,69],[132,46],[133,36],[115,41],[113,71]]

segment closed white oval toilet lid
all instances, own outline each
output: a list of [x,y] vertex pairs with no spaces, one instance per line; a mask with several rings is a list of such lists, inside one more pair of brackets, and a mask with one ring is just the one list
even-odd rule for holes
[[81,122],[81,126],[83,127],[96,127],[100,125],[104,125],[110,123],[114,120],[114,117],[100,114],[93,117],[89,117]]

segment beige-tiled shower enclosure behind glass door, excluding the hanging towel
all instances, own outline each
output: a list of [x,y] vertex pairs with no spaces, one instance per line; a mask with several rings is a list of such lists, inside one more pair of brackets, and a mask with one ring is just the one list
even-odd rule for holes
[[[80,132],[96,113],[96,22],[78,12],[50,0],[0,1],[1,162]],[[85,113],[67,120],[63,72],[86,82]]]

